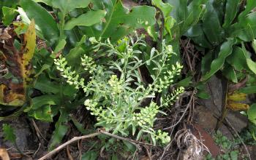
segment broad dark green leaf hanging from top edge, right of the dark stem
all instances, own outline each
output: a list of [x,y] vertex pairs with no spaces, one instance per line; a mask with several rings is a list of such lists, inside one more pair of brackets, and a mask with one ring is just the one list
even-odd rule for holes
[[209,0],[206,4],[206,14],[203,16],[203,31],[206,33],[208,41],[216,46],[223,39],[223,30],[219,22],[217,10],[214,8],[214,0]]

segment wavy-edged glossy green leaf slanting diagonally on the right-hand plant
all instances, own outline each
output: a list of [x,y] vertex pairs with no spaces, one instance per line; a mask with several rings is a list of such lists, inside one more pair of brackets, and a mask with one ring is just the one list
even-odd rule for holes
[[219,71],[224,63],[227,56],[229,56],[233,51],[233,44],[236,43],[236,39],[227,39],[219,50],[219,56],[217,59],[213,60],[211,63],[211,69],[206,73],[206,75],[203,76],[202,81],[206,81],[209,79],[214,73]]

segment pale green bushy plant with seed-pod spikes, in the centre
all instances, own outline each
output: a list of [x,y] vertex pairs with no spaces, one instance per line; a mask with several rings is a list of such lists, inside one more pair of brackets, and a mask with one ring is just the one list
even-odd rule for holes
[[[151,49],[150,58],[143,62],[138,58],[142,54],[138,47],[144,46],[145,42],[138,36],[135,40],[122,39],[118,44],[111,44],[109,40],[97,41],[94,37],[89,40],[94,45],[94,50],[104,49],[105,56],[110,58],[105,63],[97,64],[93,57],[81,57],[81,65],[89,75],[89,81],[72,71],[65,57],[56,59],[55,64],[61,76],[67,79],[67,83],[83,89],[87,97],[84,104],[97,117],[96,125],[124,136],[132,131],[132,135],[137,133],[137,140],[143,133],[148,133],[154,144],[157,140],[161,143],[169,142],[167,133],[154,130],[154,121],[157,113],[161,113],[161,108],[173,103],[184,89],[178,88],[173,98],[160,105],[154,103],[153,98],[162,89],[167,89],[173,83],[174,77],[181,72],[182,66],[179,63],[167,68],[167,60],[175,54],[172,47],[163,42],[162,52]],[[148,85],[143,83],[140,75],[140,66],[146,63],[157,65],[154,68],[157,76],[151,76],[153,82]],[[146,99],[150,103],[144,106],[142,104]]]

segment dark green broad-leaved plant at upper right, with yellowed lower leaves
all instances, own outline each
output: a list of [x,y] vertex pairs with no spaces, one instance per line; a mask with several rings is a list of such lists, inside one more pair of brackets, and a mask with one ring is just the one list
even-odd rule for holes
[[[228,109],[247,110],[249,105],[236,101],[245,100],[245,94],[255,93],[256,63],[252,52],[255,52],[256,1],[244,2],[208,1],[203,20],[186,33],[186,36],[197,44],[198,49],[206,53],[202,60],[201,81],[207,81],[217,71],[221,71],[225,77],[222,79],[225,82],[222,119],[225,118]],[[240,85],[233,85],[238,83]],[[246,87],[242,88],[244,86]],[[252,105],[248,111],[248,118],[252,124],[255,122],[252,120],[255,117],[252,116],[254,106]],[[255,129],[252,133],[254,132]]]

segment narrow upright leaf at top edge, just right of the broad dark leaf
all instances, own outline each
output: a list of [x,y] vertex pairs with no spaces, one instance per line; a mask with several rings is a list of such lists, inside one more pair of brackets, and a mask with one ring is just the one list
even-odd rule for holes
[[239,9],[238,4],[240,4],[240,2],[241,0],[227,0],[225,10],[225,22],[223,24],[224,28],[229,27],[233,20],[235,19]]

